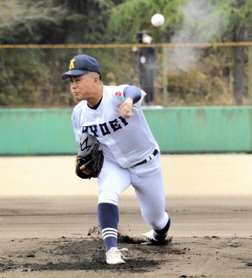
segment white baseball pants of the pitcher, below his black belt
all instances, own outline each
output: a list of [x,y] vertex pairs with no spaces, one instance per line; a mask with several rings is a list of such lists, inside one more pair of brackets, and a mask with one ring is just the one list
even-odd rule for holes
[[120,193],[132,184],[147,224],[154,230],[161,230],[167,224],[169,217],[165,212],[159,152],[147,163],[131,168],[122,168],[104,158],[103,169],[97,182],[98,203],[117,205]]

